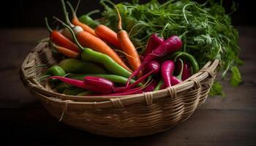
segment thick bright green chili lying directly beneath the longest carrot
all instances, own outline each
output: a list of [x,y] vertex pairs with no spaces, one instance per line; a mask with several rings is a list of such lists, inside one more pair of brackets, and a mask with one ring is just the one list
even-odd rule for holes
[[90,48],[85,48],[81,53],[81,57],[83,61],[94,61],[105,66],[109,72],[113,74],[117,74],[123,77],[129,77],[132,73],[124,69],[122,66],[116,63],[112,58],[103,53],[99,53],[97,51],[91,50]]

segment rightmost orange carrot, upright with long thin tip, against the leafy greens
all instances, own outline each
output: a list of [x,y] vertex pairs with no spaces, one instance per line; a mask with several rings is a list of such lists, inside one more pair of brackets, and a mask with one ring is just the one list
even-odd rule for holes
[[[139,68],[141,62],[140,62],[140,56],[138,55],[138,52],[135,48],[135,46],[132,44],[132,41],[129,39],[129,35],[127,31],[124,31],[123,28],[121,27],[121,15],[120,12],[118,11],[118,8],[115,6],[116,11],[118,13],[118,33],[117,37],[120,42],[121,48],[124,50],[126,55],[127,60],[129,61],[129,65],[131,66],[132,70],[135,71]],[[138,76],[141,76],[138,74]]]

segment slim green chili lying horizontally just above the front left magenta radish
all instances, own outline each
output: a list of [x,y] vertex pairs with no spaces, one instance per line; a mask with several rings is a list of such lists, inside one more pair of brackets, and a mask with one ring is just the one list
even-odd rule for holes
[[[69,77],[71,77],[72,79],[76,79],[76,80],[83,80],[83,78],[87,77],[87,76],[103,77],[112,82],[121,83],[121,84],[126,84],[127,80],[128,80],[127,77],[122,77],[122,76],[118,76],[115,74],[69,74]],[[130,80],[129,83],[133,83],[133,82],[135,82],[135,80]],[[143,84],[141,82],[138,83],[138,86],[142,86],[142,85]]]

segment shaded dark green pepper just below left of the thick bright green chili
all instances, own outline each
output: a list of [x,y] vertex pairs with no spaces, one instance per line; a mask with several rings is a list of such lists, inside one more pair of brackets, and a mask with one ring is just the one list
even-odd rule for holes
[[80,61],[74,58],[64,59],[59,63],[66,72],[70,73],[86,73],[86,74],[106,74],[105,69],[91,62]]

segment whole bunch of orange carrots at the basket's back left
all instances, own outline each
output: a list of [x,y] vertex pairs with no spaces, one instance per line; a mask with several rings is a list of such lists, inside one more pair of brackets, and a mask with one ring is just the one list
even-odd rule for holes
[[[78,1],[79,4],[80,1]],[[83,47],[89,47],[92,50],[95,50],[99,53],[104,53],[108,55],[110,58],[113,58],[117,64],[127,69],[129,72],[135,71],[140,66],[140,58],[138,55],[135,46],[129,39],[129,35],[127,31],[124,31],[121,28],[121,16],[118,12],[118,32],[111,30],[108,26],[99,24],[94,29],[90,26],[86,25],[85,23],[81,23],[76,15],[76,11],[78,6],[74,9],[72,5],[67,1],[71,11],[72,11],[72,20],[69,21],[68,13],[66,9],[66,5],[64,0],[61,0],[62,9],[64,12],[65,22],[72,28],[75,32],[75,38],[78,39],[78,42]],[[50,31],[50,40],[54,43],[54,47],[58,50],[59,53],[68,57],[68,58],[78,58],[81,51],[77,45],[73,42],[73,40],[68,39],[70,37],[64,36],[61,34],[60,31],[52,31],[50,26],[48,25],[47,19],[45,20],[46,26]],[[78,27],[80,26],[80,27]],[[110,47],[116,47],[124,52],[126,58],[129,62],[129,68],[127,64],[124,64],[124,61],[121,59],[120,56]],[[139,74],[141,76],[141,74]]]

